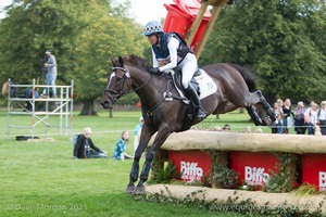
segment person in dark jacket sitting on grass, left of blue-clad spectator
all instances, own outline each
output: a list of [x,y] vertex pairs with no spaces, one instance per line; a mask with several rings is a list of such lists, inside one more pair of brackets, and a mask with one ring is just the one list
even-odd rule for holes
[[106,158],[106,152],[97,148],[91,139],[91,129],[86,127],[74,145],[74,158]]

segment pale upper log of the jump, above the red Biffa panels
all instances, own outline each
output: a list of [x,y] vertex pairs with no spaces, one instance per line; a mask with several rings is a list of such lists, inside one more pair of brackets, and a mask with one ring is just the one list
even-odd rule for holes
[[171,135],[161,149],[326,153],[326,137],[188,130]]

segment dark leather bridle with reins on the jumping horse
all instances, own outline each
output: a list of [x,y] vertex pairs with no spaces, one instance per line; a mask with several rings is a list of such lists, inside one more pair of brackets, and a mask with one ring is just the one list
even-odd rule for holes
[[[127,95],[127,94],[129,94],[131,92],[135,92],[136,90],[139,90],[140,88],[147,86],[151,81],[151,79],[153,77],[153,75],[151,74],[151,78],[146,84],[143,84],[143,85],[141,85],[141,86],[133,89],[131,88],[130,74],[129,74],[128,68],[125,68],[125,67],[113,67],[112,68],[112,73],[115,73],[115,71],[122,71],[122,72],[124,72],[124,75],[122,76],[122,79],[118,81],[120,86],[121,86],[120,90],[117,90],[117,91],[116,90],[110,90],[108,88],[104,90],[104,94],[113,103],[115,103],[120,98],[125,97],[125,95]],[[128,87],[128,91],[127,92],[123,91],[123,89],[125,87],[125,84],[127,84],[127,87]],[[111,97],[111,95],[114,95],[114,97]]]

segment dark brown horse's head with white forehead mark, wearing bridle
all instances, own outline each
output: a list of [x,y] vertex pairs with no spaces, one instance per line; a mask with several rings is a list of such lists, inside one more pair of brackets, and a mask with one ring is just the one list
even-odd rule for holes
[[104,94],[101,98],[101,105],[103,108],[111,108],[112,104],[123,95],[127,94],[130,87],[129,71],[124,65],[124,61],[121,56],[118,59],[111,59],[112,73],[108,78],[108,86],[104,90]]

